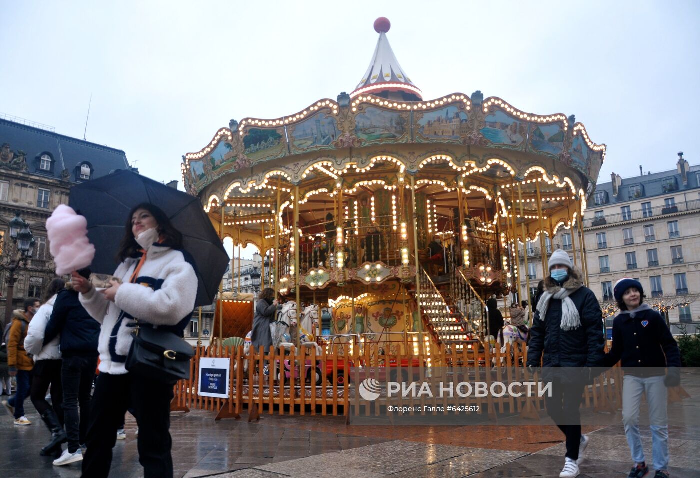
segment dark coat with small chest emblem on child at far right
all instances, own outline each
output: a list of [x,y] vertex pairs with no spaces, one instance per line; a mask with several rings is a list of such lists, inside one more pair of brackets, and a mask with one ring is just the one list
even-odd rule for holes
[[648,308],[634,317],[629,312],[615,317],[605,366],[612,367],[620,359],[624,373],[637,377],[666,375],[666,367],[680,367],[680,349],[661,314]]

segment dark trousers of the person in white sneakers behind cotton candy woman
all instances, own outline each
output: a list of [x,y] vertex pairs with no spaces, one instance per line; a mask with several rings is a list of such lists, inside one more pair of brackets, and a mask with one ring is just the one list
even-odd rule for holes
[[78,451],[80,444],[85,443],[90,414],[90,392],[96,369],[97,357],[63,358],[63,414],[68,435],[68,451],[71,453]]

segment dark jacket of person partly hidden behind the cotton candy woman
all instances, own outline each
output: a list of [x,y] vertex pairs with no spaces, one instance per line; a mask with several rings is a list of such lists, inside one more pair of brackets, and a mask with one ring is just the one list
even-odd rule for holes
[[64,289],[58,293],[51,318],[46,324],[44,345],[61,335],[61,353],[64,357],[97,357],[99,322],[87,314],[80,304],[78,292]]

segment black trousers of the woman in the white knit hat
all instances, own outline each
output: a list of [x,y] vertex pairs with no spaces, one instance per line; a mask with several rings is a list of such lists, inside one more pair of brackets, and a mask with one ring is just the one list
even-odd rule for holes
[[547,414],[552,417],[556,426],[566,436],[566,458],[578,459],[578,449],[581,445],[581,412],[583,388],[585,384],[562,384],[552,382],[552,396],[545,396]]

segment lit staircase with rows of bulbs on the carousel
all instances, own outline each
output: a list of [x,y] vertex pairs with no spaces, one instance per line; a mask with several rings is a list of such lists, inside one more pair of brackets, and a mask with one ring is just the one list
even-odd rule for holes
[[460,307],[455,300],[456,296],[449,293],[453,288],[451,281],[436,286],[422,267],[419,281],[421,315],[437,340],[445,346],[454,344],[458,349],[479,344],[478,329],[465,315],[465,307]]

